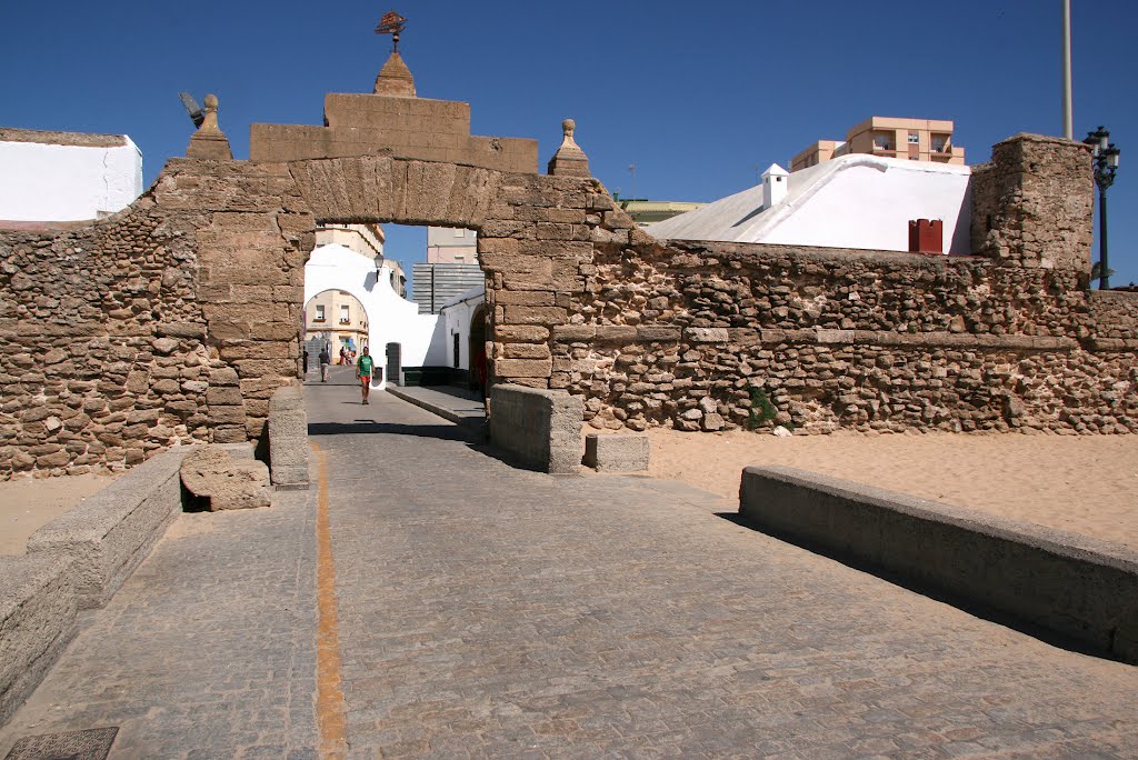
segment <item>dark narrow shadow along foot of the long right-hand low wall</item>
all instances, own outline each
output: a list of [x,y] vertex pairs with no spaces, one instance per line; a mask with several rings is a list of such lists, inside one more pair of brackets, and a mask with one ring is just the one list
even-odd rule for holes
[[940,586],[934,586],[930,583],[909,577],[902,576],[898,572],[893,572],[887,568],[868,562],[858,556],[853,556],[847,552],[832,548],[830,546],[824,546],[816,542],[801,538],[787,534],[782,530],[776,530],[767,526],[756,524],[739,512],[716,512],[717,518],[723,518],[727,522],[733,522],[742,528],[748,528],[754,532],[764,534],[765,536],[770,536],[781,542],[787,544],[793,544],[800,548],[810,552],[811,554],[817,554],[819,556],[825,556],[827,559],[834,560],[835,562],[841,562],[848,568],[865,572],[867,575],[874,576],[882,580],[889,581],[894,586],[900,586],[906,588],[914,594],[920,594],[922,596],[927,596],[931,600],[935,600],[942,604],[948,604],[949,606],[955,606],[962,612],[966,612],[975,618],[981,618],[988,620],[989,622],[995,622],[996,625],[1017,630],[1021,634],[1025,634],[1033,638],[1038,638],[1041,642],[1056,646],[1058,649],[1067,650],[1069,652],[1078,652],[1079,654],[1089,654],[1096,658],[1103,658],[1106,660],[1113,660],[1111,654],[1104,653],[1102,650],[1097,650],[1086,642],[1080,642],[1073,637],[1065,636],[1061,633],[1044,628],[1042,626],[1036,625],[1022,618],[1017,618],[1003,610],[997,610],[987,604],[978,602],[973,598],[962,596],[960,594],[954,593],[951,590],[941,588]]

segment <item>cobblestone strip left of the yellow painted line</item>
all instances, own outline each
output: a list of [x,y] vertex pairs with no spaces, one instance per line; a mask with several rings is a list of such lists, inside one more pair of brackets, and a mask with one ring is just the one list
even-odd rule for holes
[[315,758],[313,498],[181,515],[84,614],[0,758],[23,736],[106,726],[112,758]]

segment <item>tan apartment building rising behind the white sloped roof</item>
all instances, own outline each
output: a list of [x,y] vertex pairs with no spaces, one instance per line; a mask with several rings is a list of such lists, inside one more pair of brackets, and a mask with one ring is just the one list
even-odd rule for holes
[[964,148],[953,144],[953,126],[951,121],[871,116],[850,127],[844,141],[818,140],[810,144],[791,159],[790,171],[851,154],[963,166]]

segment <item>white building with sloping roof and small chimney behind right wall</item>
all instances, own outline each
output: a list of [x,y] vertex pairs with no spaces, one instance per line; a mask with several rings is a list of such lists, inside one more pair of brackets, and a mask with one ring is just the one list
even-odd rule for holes
[[792,174],[776,164],[762,184],[646,231],[673,240],[906,251],[909,221],[926,218],[943,223],[945,253],[967,254],[971,175],[968,166],[860,154]]

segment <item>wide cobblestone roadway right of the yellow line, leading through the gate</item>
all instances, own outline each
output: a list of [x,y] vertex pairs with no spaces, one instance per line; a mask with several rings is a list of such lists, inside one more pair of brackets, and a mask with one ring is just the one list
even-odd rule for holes
[[684,486],[511,470],[387,394],[310,399],[340,433],[319,440],[353,757],[1138,757],[1138,669]]

